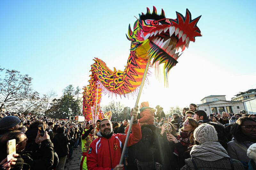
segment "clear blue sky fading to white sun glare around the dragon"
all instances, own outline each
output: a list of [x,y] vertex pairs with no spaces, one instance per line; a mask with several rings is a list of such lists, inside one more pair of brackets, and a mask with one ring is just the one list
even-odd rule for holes
[[[203,36],[179,58],[170,86],[150,77],[142,100],[164,107],[200,103],[208,95],[227,95],[256,88],[256,1],[0,1],[0,66],[33,78],[33,88],[43,94],[62,94],[68,84],[83,87],[89,80],[92,59],[123,70],[130,42],[125,34],[146,7],[175,11],[192,18]],[[115,99],[115,98],[113,98]],[[157,100],[156,100],[157,99]],[[102,104],[111,99],[102,97]],[[117,98],[115,100],[121,100]],[[122,99],[131,106],[135,99]]]

